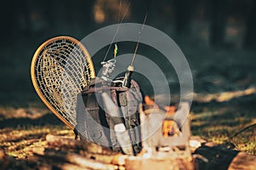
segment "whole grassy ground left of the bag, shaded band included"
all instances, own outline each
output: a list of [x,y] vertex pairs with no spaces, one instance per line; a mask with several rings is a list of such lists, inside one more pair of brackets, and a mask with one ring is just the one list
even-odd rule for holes
[[9,156],[28,160],[32,148],[46,146],[49,133],[73,136],[73,131],[45,107],[0,107],[0,145]]

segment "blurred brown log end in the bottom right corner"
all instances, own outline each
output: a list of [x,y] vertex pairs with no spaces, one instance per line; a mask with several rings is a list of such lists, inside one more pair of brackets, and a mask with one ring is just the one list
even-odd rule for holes
[[256,169],[256,156],[239,152],[231,161],[229,170],[254,170]]

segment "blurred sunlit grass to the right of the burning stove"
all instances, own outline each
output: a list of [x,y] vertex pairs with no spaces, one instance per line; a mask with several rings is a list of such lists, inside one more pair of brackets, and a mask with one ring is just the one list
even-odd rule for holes
[[[192,106],[192,133],[207,141],[235,146],[236,150],[256,155],[256,128],[242,133],[241,129],[256,123],[253,105],[245,105],[255,95],[233,99],[229,102],[195,104]],[[238,105],[239,104],[239,105]],[[251,107],[249,107],[251,106]],[[193,111],[194,110],[194,111]]]

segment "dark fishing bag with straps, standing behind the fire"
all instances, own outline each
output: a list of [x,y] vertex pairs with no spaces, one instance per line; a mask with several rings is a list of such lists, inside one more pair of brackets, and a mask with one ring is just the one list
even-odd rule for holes
[[[102,98],[103,92],[108,92],[121,116],[108,113],[108,105],[104,105]],[[134,80],[131,80],[131,88],[122,88],[119,82],[104,85],[101,81],[91,79],[90,85],[78,95],[76,130],[80,138],[120,151],[113,128],[123,123],[130,135],[133,154],[136,155],[142,149],[138,112],[142,100],[140,88]]]

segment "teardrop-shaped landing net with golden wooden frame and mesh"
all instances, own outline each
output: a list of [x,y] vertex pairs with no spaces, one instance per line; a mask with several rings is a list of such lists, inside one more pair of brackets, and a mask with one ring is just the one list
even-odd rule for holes
[[76,125],[77,96],[95,76],[90,54],[73,37],[53,37],[35,52],[32,84],[40,99],[72,129]]

